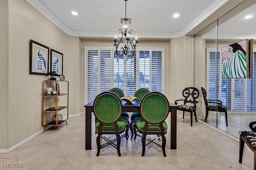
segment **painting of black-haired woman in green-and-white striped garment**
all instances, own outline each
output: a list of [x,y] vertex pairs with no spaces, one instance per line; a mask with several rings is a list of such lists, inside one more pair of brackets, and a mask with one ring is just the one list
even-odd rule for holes
[[222,47],[222,78],[250,77],[249,40]]

